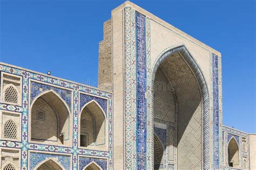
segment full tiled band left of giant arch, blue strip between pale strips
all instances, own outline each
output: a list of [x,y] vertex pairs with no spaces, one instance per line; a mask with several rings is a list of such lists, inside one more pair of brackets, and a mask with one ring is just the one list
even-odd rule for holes
[[[152,168],[153,124],[151,111],[147,112],[147,108],[151,105],[150,21],[149,18],[130,7],[124,9],[124,20],[125,167],[127,169],[146,169],[146,166]],[[150,85],[147,86],[147,83]],[[150,113],[148,118],[147,113]]]

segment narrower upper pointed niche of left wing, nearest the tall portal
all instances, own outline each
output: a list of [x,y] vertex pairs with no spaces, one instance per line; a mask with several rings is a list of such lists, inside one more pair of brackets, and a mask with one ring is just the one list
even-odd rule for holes
[[106,115],[96,100],[86,103],[79,116],[79,146],[104,149],[108,142]]

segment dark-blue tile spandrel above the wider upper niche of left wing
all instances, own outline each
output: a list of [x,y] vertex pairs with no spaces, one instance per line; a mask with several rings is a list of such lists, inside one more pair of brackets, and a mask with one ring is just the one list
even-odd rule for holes
[[42,92],[45,92],[47,90],[53,90],[54,92],[59,94],[59,96],[69,106],[69,108],[71,108],[71,98],[72,98],[71,91],[60,89],[60,88],[57,88],[55,86],[50,86],[50,85],[46,85],[46,84],[37,83],[35,81],[31,81],[31,94],[30,94],[31,101],[33,101],[33,99],[35,99]]

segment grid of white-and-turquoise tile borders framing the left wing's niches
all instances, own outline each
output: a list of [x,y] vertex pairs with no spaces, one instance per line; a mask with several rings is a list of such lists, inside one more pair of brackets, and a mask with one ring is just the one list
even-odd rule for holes
[[[77,169],[77,159],[78,154],[81,155],[92,155],[103,158],[108,158],[109,169],[112,169],[112,153],[113,153],[113,141],[112,141],[112,94],[97,89],[93,87],[87,87],[80,84],[71,83],[70,81],[60,80],[53,77],[48,77],[43,74],[34,73],[32,71],[26,71],[22,69],[17,69],[15,66],[0,64],[0,71],[22,76],[22,107],[3,104],[0,103],[1,110],[22,112],[22,142],[15,141],[0,141],[0,146],[21,148],[21,169],[28,169],[28,151],[47,151],[52,154],[72,154],[72,168]],[[28,141],[28,104],[29,104],[29,79],[37,80],[39,83],[47,83],[48,85],[53,85],[55,87],[65,87],[73,92],[73,146],[72,147],[62,147],[62,146],[52,146],[43,144],[33,144]],[[78,149],[77,147],[77,126],[78,126],[78,91],[86,92],[92,94],[93,96],[104,97],[108,99],[107,108],[109,115],[109,152],[103,151],[93,151],[89,149]]]

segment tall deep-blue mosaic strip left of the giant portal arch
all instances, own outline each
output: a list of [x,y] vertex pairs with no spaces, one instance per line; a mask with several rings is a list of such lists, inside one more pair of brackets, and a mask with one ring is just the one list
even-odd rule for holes
[[137,40],[137,168],[146,169],[146,18],[136,12],[136,40]]

